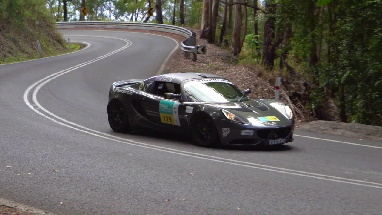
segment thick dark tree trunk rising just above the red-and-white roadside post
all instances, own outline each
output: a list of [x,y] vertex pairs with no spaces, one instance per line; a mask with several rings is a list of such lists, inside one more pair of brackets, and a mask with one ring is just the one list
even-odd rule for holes
[[[265,11],[267,12],[264,23],[264,44],[263,44],[263,59],[262,65],[268,67],[270,70],[274,67],[275,60],[275,46],[273,41],[275,39],[275,21],[276,18],[276,4],[271,3],[271,0],[265,1]],[[269,16],[270,15],[270,16]]]

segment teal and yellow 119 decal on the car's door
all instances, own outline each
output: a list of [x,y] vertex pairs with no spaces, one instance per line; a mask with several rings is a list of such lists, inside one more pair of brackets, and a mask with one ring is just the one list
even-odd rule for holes
[[159,103],[160,122],[180,126],[179,105],[180,105],[179,102],[160,100],[160,103]]

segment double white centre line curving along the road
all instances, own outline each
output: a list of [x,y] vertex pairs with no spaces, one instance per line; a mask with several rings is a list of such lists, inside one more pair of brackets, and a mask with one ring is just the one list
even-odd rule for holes
[[[110,38],[110,37],[108,37],[108,38]],[[121,38],[116,38],[115,37],[115,39],[121,39]],[[121,40],[125,40],[125,39],[121,39]],[[125,40],[125,41],[127,42],[127,40]],[[147,143],[137,142],[137,141],[130,140],[130,139],[127,139],[127,138],[116,137],[116,136],[109,135],[109,134],[106,134],[106,133],[103,133],[103,132],[99,132],[99,131],[96,131],[96,130],[89,129],[87,127],[75,124],[73,122],[67,121],[66,119],[58,117],[55,114],[53,114],[52,112],[49,112],[47,109],[42,107],[39,104],[39,102],[37,101],[37,93],[38,93],[38,91],[40,90],[40,88],[42,88],[42,86],[44,86],[49,81],[51,81],[51,80],[53,80],[53,79],[55,79],[57,77],[60,77],[61,75],[65,74],[65,73],[68,73],[68,72],[71,72],[73,70],[76,70],[77,68],[81,68],[81,67],[83,67],[85,65],[91,64],[91,63],[96,62],[96,61],[101,60],[101,59],[104,59],[105,57],[108,57],[108,56],[113,55],[113,54],[115,54],[115,53],[117,53],[117,52],[119,52],[119,51],[121,51],[123,49],[126,49],[130,45],[131,44],[126,44],[126,46],[122,47],[121,49],[115,50],[114,52],[110,52],[109,54],[106,54],[106,55],[104,55],[102,57],[96,58],[94,60],[90,60],[88,62],[85,62],[83,64],[79,64],[78,66],[71,67],[71,68],[68,68],[66,70],[62,70],[62,71],[54,73],[54,74],[52,74],[52,75],[50,75],[48,77],[45,77],[45,78],[43,78],[43,79],[41,79],[39,81],[36,81],[31,86],[29,86],[26,89],[26,91],[24,92],[24,96],[23,96],[24,102],[28,105],[29,108],[31,108],[37,114],[40,114],[41,116],[43,116],[43,117],[45,117],[45,118],[47,118],[47,119],[49,119],[49,120],[51,120],[53,122],[56,122],[56,123],[61,124],[61,125],[64,125],[66,127],[70,127],[70,128],[72,128],[74,130],[78,130],[78,131],[84,132],[86,134],[94,135],[94,136],[105,138],[105,139],[108,139],[108,140],[113,140],[113,141],[120,142],[120,143],[125,143],[125,144],[128,144],[128,145],[134,145],[134,146],[138,146],[138,147],[150,148],[150,149],[153,149],[153,150],[165,151],[165,152],[173,153],[173,154],[177,154],[177,155],[183,155],[183,156],[189,156],[189,157],[194,157],[194,158],[199,158],[199,159],[204,159],[204,160],[216,161],[216,162],[220,162],[220,163],[227,163],[227,164],[231,164],[231,165],[245,166],[245,167],[249,167],[249,168],[262,169],[262,170],[273,171],[273,172],[278,172],[278,173],[292,174],[292,175],[303,176],[303,177],[308,177],[308,178],[316,178],[316,179],[322,179],[322,180],[326,180],[326,181],[335,181],[335,182],[342,182],[342,183],[347,183],[347,184],[355,184],[355,185],[360,185],[360,186],[375,187],[375,188],[381,188],[382,189],[382,184],[376,183],[376,182],[361,181],[361,180],[354,180],[354,179],[348,179],[348,178],[340,178],[340,177],[328,176],[328,175],[324,175],[324,174],[308,173],[308,172],[297,171],[297,170],[293,170],[293,169],[285,169],[285,168],[279,168],[279,167],[275,167],[275,166],[267,166],[267,165],[261,165],[261,164],[257,164],[257,163],[249,163],[249,162],[244,162],[244,161],[231,160],[231,159],[227,159],[227,158],[220,158],[220,157],[216,157],[216,156],[203,155],[203,154],[193,153],[193,152],[188,152],[188,151],[181,151],[181,150],[176,150],[176,149],[167,148],[167,147],[159,147],[159,146],[155,146],[155,145],[151,145],[151,144],[147,144]],[[51,116],[55,117],[56,119],[58,119],[60,121],[63,121],[63,122],[66,122],[67,124],[65,124],[63,122],[59,122],[56,119],[53,119],[53,118],[45,115],[44,113],[42,113],[42,112],[38,111],[37,109],[35,109],[32,106],[32,104],[29,103],[28,95],[29,95],[29,93],[32,91],[32,89],[35,86],[36,86],[36,88],[32,92],[32,101],[33,101],[34,105],[39,107],[42,111],[45,111],[47,114],[50,114]],[[73,127],[73,126],[68,125],[68,124],[72,124],[72,125],[74,125],[76,127],[82,128],[82,129],[78,129],[78,128]],[[88,132],[86,130],[88,130],[90,132]],[[96,134],[96,133],[98,133],[98,134]],[[102,135],[104,135],[104,136],[102,136]],[[105,136],[108,136],[108,137],[105,137]],[[120,139],[120,140],[117,140],[117,139]],[[279,169],[279,170],[277,170],[277,169]],[[350,182],[350,181],[354,181],[354,182]],[[363,184],[356,183],[356,182],[361,182]],[[375,184],[375,185],[371,185],[371,184]]]

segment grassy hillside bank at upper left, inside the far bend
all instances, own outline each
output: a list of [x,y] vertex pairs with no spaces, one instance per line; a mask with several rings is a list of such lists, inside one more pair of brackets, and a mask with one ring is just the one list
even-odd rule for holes
[[0,64],[39,59],[37,40],[43,57],[76,51],[69,50],[45,0],[2,0],[0,3]]

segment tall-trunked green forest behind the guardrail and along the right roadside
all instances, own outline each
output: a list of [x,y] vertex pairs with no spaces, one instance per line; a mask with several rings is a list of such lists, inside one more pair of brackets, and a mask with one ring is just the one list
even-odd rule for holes
[[[81,0],[46,3],[55,21],[81,21]],[[304,118],[382,125],[382,0],[86,0],[86,7],[84,21],[199,31],[229,50],[232,63],[281,75]]]

